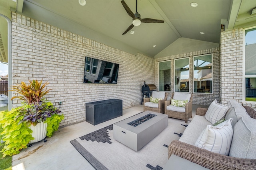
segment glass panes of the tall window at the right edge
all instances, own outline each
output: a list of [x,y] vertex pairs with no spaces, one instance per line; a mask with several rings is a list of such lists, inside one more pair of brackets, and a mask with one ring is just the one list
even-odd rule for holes
[[256,101],[256,28],[245,30],[245,101]]

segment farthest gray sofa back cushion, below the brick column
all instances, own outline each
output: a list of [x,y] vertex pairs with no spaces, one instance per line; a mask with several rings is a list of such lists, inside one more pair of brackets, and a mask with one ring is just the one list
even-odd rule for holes
[[228,120],[231,117],[233,118],[233,121],[231,123],[232,127],[241,119],[242,117],[245,118],[250,118],[250,116],[247,114],[246,110],[242,105],[240,105],[237,101],[235,100],[230,100],[228,101],[227,106],[230,108],[228,109],[225,119]]

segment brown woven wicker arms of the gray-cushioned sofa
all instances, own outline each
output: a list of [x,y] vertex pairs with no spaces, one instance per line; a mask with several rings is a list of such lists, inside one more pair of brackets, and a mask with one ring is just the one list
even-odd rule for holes
[[[206,108],[196,109],[196,115],[204,116]],[[249,114],[249,113],[248,113]],[[256,159],[234,158],[173,140],[168,147],[168,156],[175,154],[210,170],[255,170]]]

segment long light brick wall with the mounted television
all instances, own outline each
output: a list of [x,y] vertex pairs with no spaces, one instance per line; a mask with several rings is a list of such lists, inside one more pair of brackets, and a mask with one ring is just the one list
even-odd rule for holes
[[[118,63],[117,84],[83,83],[85,57]],[[154,84],[154,59],[108,45],[12,13],[13,84],[49,81],[46,98],[65,116],[60,126],[85,121],[85,103],[122,99],[123,109],[140,105],[141,87]],[[14,100],[13,107],[20,105]]]

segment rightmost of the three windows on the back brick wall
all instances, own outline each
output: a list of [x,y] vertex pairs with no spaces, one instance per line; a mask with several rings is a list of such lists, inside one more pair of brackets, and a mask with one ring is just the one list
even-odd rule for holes
[[212,54],[194,57],[194,93],[212,93]]

